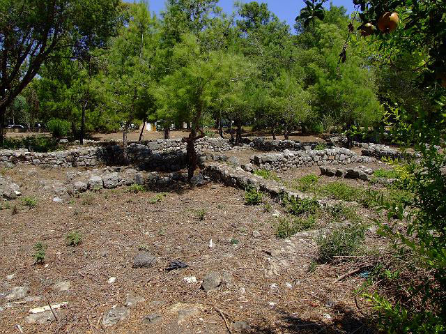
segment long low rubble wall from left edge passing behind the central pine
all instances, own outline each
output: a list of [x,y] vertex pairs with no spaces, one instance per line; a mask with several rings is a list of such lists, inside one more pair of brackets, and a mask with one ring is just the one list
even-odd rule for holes
[[[223,152],[231,149],[249,149],[250,146],[232,146],[228,140],[204,137],[197,141],[196,149]],[[128,146],[128,157],[133,165],[146,170],[175,172],[185,167],[186,147],[180,139],[157,140]],[[70,151],[49,153],[31,152],[26,149],[0,150],[0,166],[13,167],[18,163],[45,167],[96,167],[122,165],[123,148],[119,145],[91,146]]]

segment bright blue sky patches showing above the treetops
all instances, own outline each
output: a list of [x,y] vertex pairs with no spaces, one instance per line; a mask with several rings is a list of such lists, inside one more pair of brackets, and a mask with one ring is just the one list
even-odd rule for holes
[[[243,0],[243,2],[249,2],[249,0]],[[304,7],[303,0],[258,0],[257,2],[268,3],[268,8],[275,13],[280,20],[288,22],[293,27],[294,19],[298,15],[300,9]],[[220,0],[219,6],[227,13],[232,13],[234,0]],[[330,1],[325,3],[329,5]],[[347,8],[348,13],[353,12],[352,0],[332,0],[334,6],[344,6]],[[151,12],[160,13],[164,9],[164,0],[148,0],[148,6]]]

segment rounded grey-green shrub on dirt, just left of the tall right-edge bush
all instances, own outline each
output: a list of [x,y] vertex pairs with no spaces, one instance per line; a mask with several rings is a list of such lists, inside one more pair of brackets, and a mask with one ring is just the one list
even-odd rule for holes
[[337,227],[330,234],[316,238],[319,246],[318,260],[330,262],[335,256],[354,255],[364,239],[365,227],[363,225]]

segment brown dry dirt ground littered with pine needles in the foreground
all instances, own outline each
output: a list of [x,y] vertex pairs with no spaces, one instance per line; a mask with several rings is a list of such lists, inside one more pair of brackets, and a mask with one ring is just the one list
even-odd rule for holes
[[[54,194],[39,181],[66,181],[73,170],[22,165],[3,171],[20,183],[23,195],[0,210],[0,292],[29,287],[28,296],[40,298],[10,305],[0,299],[0,333],[374,333],[358,309],[365,302],[354,298],[364,278],[335,282],[358,264],[314,267],[311,234],[275,236],[275,215],[284,214],[278,202],[267,198],[270,208],[247,206],[243,190],[217,183],[139,193],[121,187],[52,202]],[[167,196],[151,204],[160,191]],[[24,197],[35,197],[36,208],[25,206]],[[66,245],[71,231],[82,234],[75,247]],[[38,242],[47,247],[44,264],[34,264]],[[367,244],[380,247],[373,231]],[[132,267],[141,249],[158,257],[155,266]],[[188,267],[166,271],[174,260]],[[206,293],[200,282],[210,272],[224,282]],[[197,282],[183,279],[191,276]],[[68,291],[54,289],[62,281],[70,282]],[[129,296],[142,298],[125,306]],[[26,323],[31,308],[62,302],[68,304],[57,321]],[[127,318],[102,326],[104,314],[122,307],[130,311]],[[146,324],[148,314],[161,318]]]

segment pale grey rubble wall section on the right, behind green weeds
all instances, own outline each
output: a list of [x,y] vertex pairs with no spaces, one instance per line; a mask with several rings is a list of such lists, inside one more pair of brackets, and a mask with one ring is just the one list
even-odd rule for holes
[[289,151],[253,155],[252,164],[261,169],[290,169],[311,167],[313,165],[346,165],[353,162],[375,162],[375,158],[357,155],[353,151],[343,148],[325,149],[321,151]]

